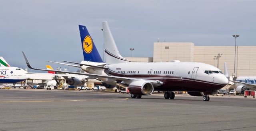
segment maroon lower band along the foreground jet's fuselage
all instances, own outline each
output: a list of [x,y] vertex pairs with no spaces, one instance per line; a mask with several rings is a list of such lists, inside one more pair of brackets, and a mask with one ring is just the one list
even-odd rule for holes
[[225,85],[204,80],[196,80],[192,78],[184,78],[178,76],[165,75],[139,75],[139,74],[120,74],[111,70],[105,70],[106,74],[112,76],[143,78],[148,80],[160,80],[163,82],[161,86],[154,87],[154,90],[159,91],[194,91],[205,92],[209,90],[219,90]]

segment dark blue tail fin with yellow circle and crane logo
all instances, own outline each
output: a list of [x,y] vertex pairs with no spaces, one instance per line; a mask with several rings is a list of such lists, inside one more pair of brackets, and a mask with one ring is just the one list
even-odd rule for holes
[[92,38],[84,25],[79,25],[84,61],[103,63]]

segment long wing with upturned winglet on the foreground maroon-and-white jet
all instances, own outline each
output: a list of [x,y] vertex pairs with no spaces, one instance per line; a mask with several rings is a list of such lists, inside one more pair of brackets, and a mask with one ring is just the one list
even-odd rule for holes
[[28,59],[26,58],[26,55],[22,51],[24,59],[26,61],[26,64],[28,68],[31,68],[33,70],[43,70],[43,71],[54,71],[54,72],[60,72],[60,73],[68,73],[68,74],[78,74],[78,75],[83,75],[83,76],[91,76],[91,77],[101,77],[101,78],[109,78],[111,80],[134,80],[135,78],[128,78],[128,77],[119,77],[119,76],[105,76],[105,75],[100,75],[100,74],[88,74],[88,73],[79,73],[79,72],[68,72],[68,71],[59,71],[59,70],[46,70],[46,69],[40,69],[40,68],[33,68],[29,62]]

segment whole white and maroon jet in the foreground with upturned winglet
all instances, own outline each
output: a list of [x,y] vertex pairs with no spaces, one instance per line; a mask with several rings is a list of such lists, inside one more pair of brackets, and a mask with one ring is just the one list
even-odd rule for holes
[[[204,63],[178,61],[169,63],[130,62],[120,55],[107,22],[103,22],[103,34],[106,57],[104,72],[108,76],[54,71],[107,78],[109,82],[118,81],[128,86],[132,98],[141,98],[142,95],[150,95],[154,90],[157,90],[167,91],[164,98],[174,99],[173,91],[183,90],[192,96],[203,96],[204,101],[209,101],[208,95],[216,94],[217,90],[228,84],[228,79],[222,74],[221,70]],[[30,66],[24,53],[23,55],[29,68],[45,70]]]

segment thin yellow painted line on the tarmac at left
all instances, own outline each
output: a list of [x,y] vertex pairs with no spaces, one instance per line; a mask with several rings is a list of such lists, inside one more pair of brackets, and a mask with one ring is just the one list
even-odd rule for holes
[[[44,100],[44,101],[6,101],[6,102],[0,102],[0,103],[14,103],[14,102],[79,102],[79,101],[104,101],[104,100],[110,100],[110,99],[99,99],[99,100]],[[113,99],[113,100],[128,100],[128,98],[125,99]]]

